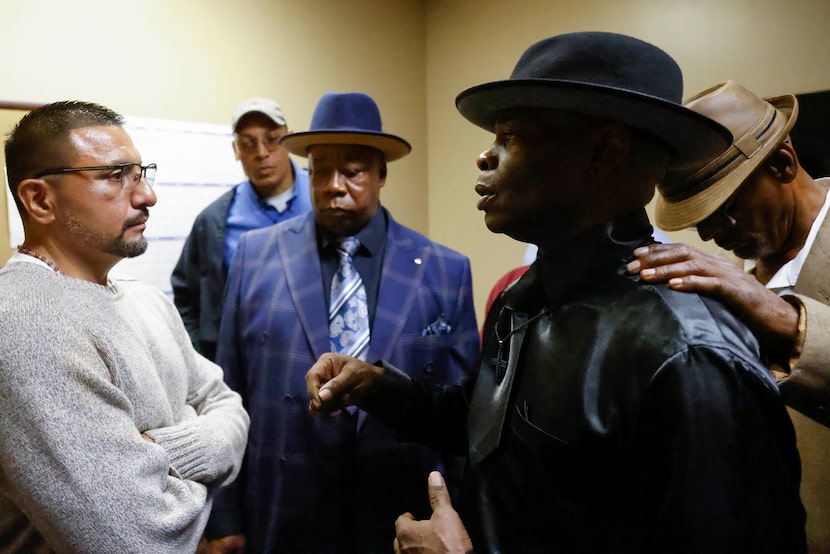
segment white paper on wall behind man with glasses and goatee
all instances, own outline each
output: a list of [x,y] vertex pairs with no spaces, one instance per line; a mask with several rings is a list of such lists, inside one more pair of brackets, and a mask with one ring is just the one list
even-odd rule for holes
[[[120,261],[110,274],[135,277],[172,294],[170,274],[196,216],[245,174],[233,155],[230,125],[127,117],[124,127],[142,164],[158,165],[153,187],[158,202],[150,208],[144,232],[147,251]],[[14,248],[23,242],[23,227],[8,187],[6,191]]]

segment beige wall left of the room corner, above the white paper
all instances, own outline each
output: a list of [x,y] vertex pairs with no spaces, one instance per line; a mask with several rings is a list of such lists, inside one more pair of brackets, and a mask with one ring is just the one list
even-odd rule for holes
[[4,0],[0,100],[230,125],[239,102],[267,96],[302,131],[322,94],[361,90],[413,146],[390,164],[383,202],[426,233],[424,40],[420,0]]

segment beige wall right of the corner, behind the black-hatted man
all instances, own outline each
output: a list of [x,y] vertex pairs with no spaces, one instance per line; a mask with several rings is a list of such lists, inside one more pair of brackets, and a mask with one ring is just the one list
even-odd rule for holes
[[[536,40],[588,30],[647,40],[680,64],[685,97],[726,79],[761,95],[830,88],[828,0],[427,0],[426,13],[429,231],[470,256],[479,314],[525,246],[490,234],[475,209],[474,163],[492,135],[466,122],[454,100],[508,78]],[[697,241],[688,231],[671,238]]]

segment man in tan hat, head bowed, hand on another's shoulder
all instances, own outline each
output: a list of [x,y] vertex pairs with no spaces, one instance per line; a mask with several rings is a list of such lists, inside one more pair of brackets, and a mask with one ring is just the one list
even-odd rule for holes
[[657,224],[696,226],[704,241],[754,264],[747,272],[687,245],[655,244],[636,250],[629,270],[719,298],[758,337],[782,398],[798,410],[790,414],[810,549],[830,552],[830,179],[813,179],[798,162],[789,140],[798,118],[794,95],[763,100],[727,81],[687,106],[735,138],[714,160],[658,185]]

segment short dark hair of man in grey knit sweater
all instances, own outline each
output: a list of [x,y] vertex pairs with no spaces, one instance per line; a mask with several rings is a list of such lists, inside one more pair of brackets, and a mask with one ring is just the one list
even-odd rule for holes
[[17,187],[39,171],[65,163],[55,158],[69,132],[82,127],[123,125],[124,116],[91,102],[64,100],[46,104],[23,116],[6,137],[6,176],[9,189],[23,214]]

